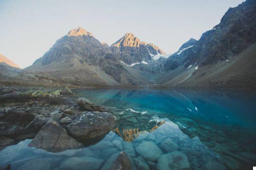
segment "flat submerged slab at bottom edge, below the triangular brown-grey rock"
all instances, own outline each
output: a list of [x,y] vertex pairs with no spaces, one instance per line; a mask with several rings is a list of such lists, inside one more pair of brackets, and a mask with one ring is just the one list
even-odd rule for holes
[[18,170],[51,170],[58,166],[61,158],[32,159],[23,164]]

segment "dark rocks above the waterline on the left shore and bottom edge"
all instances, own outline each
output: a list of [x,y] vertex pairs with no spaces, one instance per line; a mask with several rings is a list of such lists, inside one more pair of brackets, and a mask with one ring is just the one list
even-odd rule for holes
[[[32,139],[28,144],[61,152],[95,144],[113,129],[116,117],[70,89],[0,88],[0,149]],[[112,169],[128,167],[120,153]],[[128,164],[128,165],[127,165]],[[6,169],[10,165],[6,165]],[[121,168],[122,169],[122,168]]]

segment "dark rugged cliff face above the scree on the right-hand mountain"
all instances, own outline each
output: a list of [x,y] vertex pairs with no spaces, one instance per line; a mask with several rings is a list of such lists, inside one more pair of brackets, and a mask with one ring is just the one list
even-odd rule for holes
[[195,63],[214,64],[232,58],[255,42],[256,0],[247,0],[235,8],[229,8],[221,22],[202,34],[191,48],[179,53],[185,47],[182,46],[177,53],[166,59],[164,70],[173,70],[183,64],[185,67]]

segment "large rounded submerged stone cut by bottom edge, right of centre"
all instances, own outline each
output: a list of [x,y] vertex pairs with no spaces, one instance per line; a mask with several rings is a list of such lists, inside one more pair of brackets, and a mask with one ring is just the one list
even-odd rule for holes
[[189,170],[190,165],[186,155],[174,151],[161,155],[157,160],[158,170]]

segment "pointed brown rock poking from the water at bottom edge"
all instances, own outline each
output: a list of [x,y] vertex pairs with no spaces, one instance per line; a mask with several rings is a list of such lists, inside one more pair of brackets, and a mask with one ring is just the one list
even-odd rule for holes
[[122,151],[117,157],[116,164],[111,168],[111,170],[131,170],[131,161],[128,155]]

